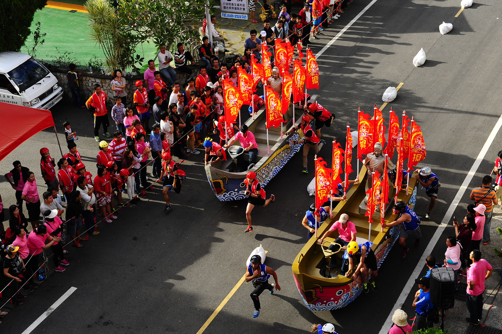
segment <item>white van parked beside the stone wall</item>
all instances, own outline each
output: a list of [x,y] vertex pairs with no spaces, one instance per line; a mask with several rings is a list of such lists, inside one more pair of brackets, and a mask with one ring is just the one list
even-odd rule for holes
[[58,79],[35,58],[0,52],[0,102],[49,109],[62,97]]

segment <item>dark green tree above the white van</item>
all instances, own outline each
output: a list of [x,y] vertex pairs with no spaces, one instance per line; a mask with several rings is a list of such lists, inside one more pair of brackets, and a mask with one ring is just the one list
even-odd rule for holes
[[35,12],[47,5],[47,0],[0,1],[0,52],[19,51],[31,34]]

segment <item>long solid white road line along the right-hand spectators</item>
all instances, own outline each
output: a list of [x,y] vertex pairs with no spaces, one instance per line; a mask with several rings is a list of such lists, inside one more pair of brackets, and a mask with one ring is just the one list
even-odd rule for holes
[[448,208],[448,211],[446,211],[446,215],[444,216],[443,220],[441,221],[441,225],[437,228],[436,232],[431,238],[431,241],[429,241],[429,244],[425,248],[424,253],[422,254],[422,257],[420,258],[420,261],[418,262],[418,265],[415,267],[415,270],[413,270],[413,273],[411,274],[410,278],[408,279],[408,282],[406,283],[405,287],[403,288],[403,292],[401,292],[401,295],[399,296],[398,300],[394,304],[394,307],[392,308],[392,311],[389,313],[389,316],[387,317],[387,320],[385,321],[384,325],[382,326],[382,329],[380,330],[379,334],[386,334],[393,324],[392,322],[392,314],[394,313],[394,310],[397,308],[401,308],[403,306],[403,303],[406,300],[406,297],[410,293],[413,285],[415,284],[415,278],[418,278],[418,275],[423,269],[423,265],[420,265],[421,263],[425,263],[425,258],[431,254],[434,246],[439,240],[439,237],[443,233],[445,227],[448,225],[448,222],[450,221],[451,217],[453,216],[453,213],[455,212],[455,209],[458,206],[458,203],[460,203],[460,200],[462,199],[462,196],[464,195],[465,191],[467,190],[467,187],[469,186],[469,183],[472,180],[472,177],[476,173],[477,169],[479,168],[479,165],[481,164],[481,161],[484,158],[484,155],[488,151],[488,148],[490,147],[491,143],[493,142],[493,139],[495,138],[495,135],[497,134],[498,130],[500,130],[500,126],[502,126],[502,115],[498,118],[497,123],[493,127],[493,130],[491,130],[490,135],[488,136],[488,139],[486,139],[486,142],[483,145],[483,148],[481,148],[481,151],[477,155],[476,160],[472,164],[472,167],[467,173],[467,176],[464,179],[464,182],[458,189],[457,195],[455,195],[455,198],[450,204],[450,207]]

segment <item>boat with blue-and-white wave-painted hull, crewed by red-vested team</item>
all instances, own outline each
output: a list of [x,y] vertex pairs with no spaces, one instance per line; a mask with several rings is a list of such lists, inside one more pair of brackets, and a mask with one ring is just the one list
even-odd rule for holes
[[[317,102],[319,95],[313,95],[310,102]],[[241,109],[242,110],[242,109]],[[258,144],[258,156],[254,164],[248,166],[247,170],[242,172],[231,172],[237,164],[237,159],[248,161],[249,155],[246,151],[238,154],[237,149],[240,145],[232,145],[226,149],[226,161],[217,161],[214,164],[207,164],[205,172],[207,180],[211,185],[211,189],[216,194],[220,201],[241,200],[247,196],[244,194],[245,185],[244,179],[249,171],[253,171],[257,175],[257,179],[261,185],[266,186],[273,177],[286,165],[286,163],[297,153],[303,144],[291,144],[290,140],[299,140],[303,137],[301,129],[286,135],[286,132],[293,127],[293,104],[290,104],[288,111],[285,113],[286,122],[283,123],[283,135],[281,138],[281,127],[269,128],[269,145],[270,153],[267,149],[267,129],[265,126],[266,111],[261,108],[255,115],[255,118],[249,117],[244,124],[247,125],[247,130],[251,131],[256,138]],[[295,108],[295,124],[300,124],[303,109]],[[231,138],[233,139],[233,137]],[[236,142],[236,144],[238,141]],[[242,155],[242,156],[239,156]]]

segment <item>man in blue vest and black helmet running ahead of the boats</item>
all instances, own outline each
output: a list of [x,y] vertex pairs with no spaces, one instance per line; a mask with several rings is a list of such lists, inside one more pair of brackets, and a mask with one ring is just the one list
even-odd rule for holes
[[[276,284],[269,284],[270,275],[274,276]],[[253,255],[251,261],[247,266],[246,282],[252,281],[255,289],[249,295],[255,304],[255,312],[253,317],[256,318],[260,315],[260,294],[265,290],[270,290],[270,294],[274,294],[274,286],[276,290],[281,291],[281,286],[277,280],[277,274],[271,267],[262,264],[262,257],[260,255]]]

